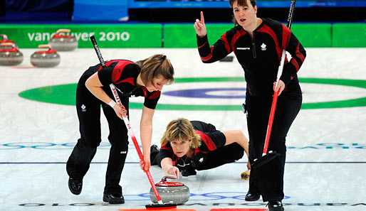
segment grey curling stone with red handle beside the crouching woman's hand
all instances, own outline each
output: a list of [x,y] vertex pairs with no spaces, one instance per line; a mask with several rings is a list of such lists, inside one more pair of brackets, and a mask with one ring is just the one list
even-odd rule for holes
[[[173,204],[182,205],[189,200],[189,188],[183,183],[167,182],[169,179],[177,179],[175,175],[165,175],[159,183],[156,183],[157,193],[162,198],[163,203],[172,202]],[[150,188],[150,200],[157,203],[154,190]]]

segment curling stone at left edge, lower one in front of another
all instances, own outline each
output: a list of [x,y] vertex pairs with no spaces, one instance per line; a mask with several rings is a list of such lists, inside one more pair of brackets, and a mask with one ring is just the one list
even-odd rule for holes
[[0,65],[19,65],[23,62],[23,53],[15,47],[14,43],[1,43]]

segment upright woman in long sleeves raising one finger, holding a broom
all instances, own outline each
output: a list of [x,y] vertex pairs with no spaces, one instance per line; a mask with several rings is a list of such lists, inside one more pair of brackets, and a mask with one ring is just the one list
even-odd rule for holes
[[[210,47],[204,15],[196,20],[199,55],[203,63],[214,63],[234,51],[246,80],[246,112],[249,131],[249,160],[260,158],[266,138],[273,90],[278,92],[268,151],[281,155],[258,168],[251,169],[246,200],[255,201],[262,195],[269,210],[284,210],[282,205],[283,173],[286,160],[286,135],[298,114],[302,94],[297,72],[305,60],[305,50],[285,25],[271,18],[258,18],[255,0],[230,0],[234,12],[234,28],[226,31]],[[283,73],[274,87],[282,50],[291,54],[285,60]],[[281,95],[280,95],[281,94]]]

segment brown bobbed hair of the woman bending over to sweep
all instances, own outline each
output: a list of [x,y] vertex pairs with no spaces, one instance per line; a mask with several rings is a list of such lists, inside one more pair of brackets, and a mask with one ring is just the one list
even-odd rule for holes
[[152,79],[159,75],[168,81],[167,85],[174,82],[174,68],[166,55],[155,54],[150,58],[135,62],[135,65],[140,67],[141,80],[146,86],[152,85]]

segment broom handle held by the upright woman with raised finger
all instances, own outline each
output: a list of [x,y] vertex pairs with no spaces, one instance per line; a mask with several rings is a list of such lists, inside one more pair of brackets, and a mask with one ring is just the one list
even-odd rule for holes
[[[293,19],[293,11],[295,10],[295,3],[296,3],[296,0],[291,0],[290,11],[288,12],[288,18],[287,18],[287,27],[288,28],[291,28],[291,23],[292,23],[292,19]],[[283,49],[282,50],[282,55],[281,55],[280,66],[278,67],[278,72],[277,72],[276,85],[275,85],[275,87],[277,87],[278,80],[279,80],[279,78],[282,75],[282,72],[283,72],[283,63],[285,63],[285,58],[286,58],[286,50]],[[269,114],[268,126],[267,126],[267,131],[266,131],[266,141],[264,142],[262,156],[264,156],[264,155],[267,154],[268,144],[269,144],[269,138],[271,137],[271,130],[272,130],[272,125],[273,125],[274,114],[276,112],[277,98],[278,98],[278,91],[273,93],[271,113]]]

